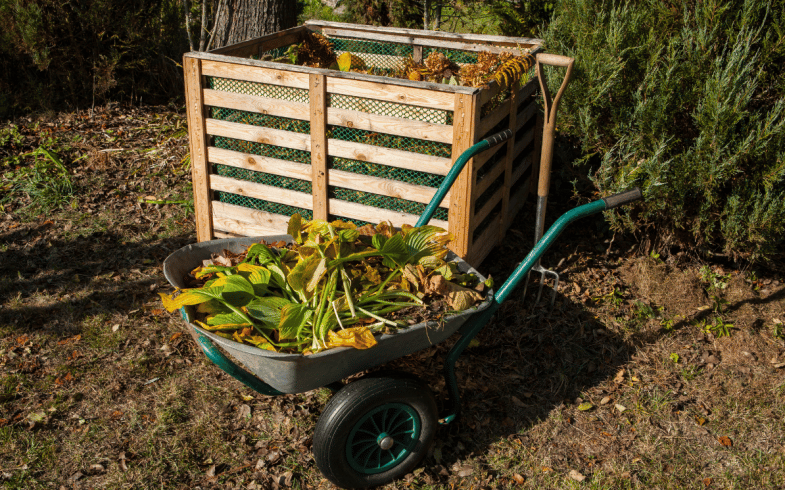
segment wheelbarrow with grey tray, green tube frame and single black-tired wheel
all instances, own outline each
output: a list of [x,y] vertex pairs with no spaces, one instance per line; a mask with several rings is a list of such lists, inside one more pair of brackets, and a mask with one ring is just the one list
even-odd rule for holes
[[[458,157],[417,226],[428,223],[470,158],[512,136],[512,131],[505,130],[475,144]],[[377,335],[377,345],[370,349],[341,347],[307,356],[271,352],[219,337],[200,328],[193,322],[194,307],[186,306],[182,309],[183,319],[213,363],[261,394],[302,393],[320,387],[331,389],[334,395],[325,406],[313,436],[313,454],[317,467],[339,487],[383,485],[412,471],[427,454],[436,428],[456,419],[460,410],[456,360],[559,233],[577,219],[640,198],[640,190],[634,189],[568,211],[535,244],[504,284],[495,292],[490,290],[479,305],[448,316],[441,322],[423,322],[393,334]],[[241,252],[260,239],[276,242],[291,241],[292,237],[229,238],[188,245],[166,259],[164,274],[173,286],[185,288],[184,278],[188,272],[204,259],[210,258],[212,253],[224,249]],[[485,280],[454,254],[448,254],[447,257],[457,263],[461,272],[472,272],[480,280]],[[341,382],[353,374],[438,344],[456,333],[460,338],[444,362],[449,395],[444,413],[437,413],[436,399],[428,385],[406,373],[379,371],[347,384]],[[235,364],[216,346],[220,346],[247,370]]]

